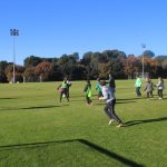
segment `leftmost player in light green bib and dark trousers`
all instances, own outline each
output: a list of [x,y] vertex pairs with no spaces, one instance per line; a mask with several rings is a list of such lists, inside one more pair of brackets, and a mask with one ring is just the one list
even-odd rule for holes
[[60,91],[60,102],[62,96],[65,96],[67,98],[67,101],[69,101],[67,78],[63,79],[62,84],[59,85],[57,89]]

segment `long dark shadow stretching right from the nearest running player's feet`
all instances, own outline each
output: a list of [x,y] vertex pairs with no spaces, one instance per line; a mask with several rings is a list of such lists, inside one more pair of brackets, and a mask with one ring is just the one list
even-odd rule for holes
[[156,118],[156,119],[131,120],[131,121],[125,122],[125,127],[135,126],[139,124],[165,121],[165,120],[167,120],[167,117],[161,117],[161,118]]

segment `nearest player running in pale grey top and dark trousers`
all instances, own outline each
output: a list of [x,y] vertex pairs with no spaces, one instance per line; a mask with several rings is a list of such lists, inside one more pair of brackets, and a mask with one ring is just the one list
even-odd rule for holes
[[106,106],[104,110],[110,119],[108,125],[110,125],[116,120],[118,122],[117,127],[121,127],[124,126],[124,122],[115,112],[115,105],[116,105],[115,92],[110,91],[110,89],[106,86],[106,84],[107,82],[105,80],[100,82],[104,97],[100,97],[99,100],[106,100]]

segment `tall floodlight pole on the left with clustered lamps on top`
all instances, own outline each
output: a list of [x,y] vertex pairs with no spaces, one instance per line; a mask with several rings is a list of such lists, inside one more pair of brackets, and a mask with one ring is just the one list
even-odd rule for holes
[[13,36],[13,71],[12,71],[12,82],[16,82],[16,46],[14,46],[14,37],[19,36],[18,29],[10,29],[10,36]]

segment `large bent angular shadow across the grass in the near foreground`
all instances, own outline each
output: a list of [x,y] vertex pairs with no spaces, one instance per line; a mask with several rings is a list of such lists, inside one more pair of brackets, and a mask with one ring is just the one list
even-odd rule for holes
[[94,143],[90,143],[86,139],[71,139],[71,140],[59,140],[59,141],[47,141],[47,143],[32,143],[32,144],[20,144],[20,145],[8,145],[8,146],[0,146],[0,151],[3,150],[13,150],[13,149],[24,149],[24,148],[33,148],[33,147],[43,147],[43,146],[48,146],[48,145],[55,145],[55,144],[63,144],[63,143],[80,143],[82,145],[88,146],[89,148],[109,157],[112,158],[115,160],[120,161],[124,165],[127,165],[129,167],[144,167],[144,165],[138,164],[134,160],[127,159],[114,151],[110,151],[106,148],[102,148]]

